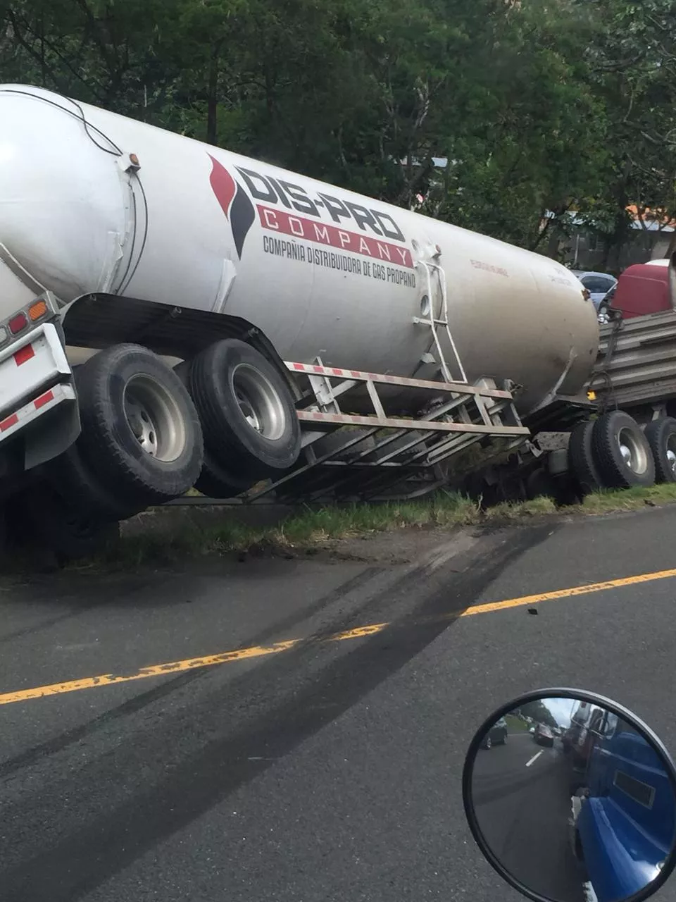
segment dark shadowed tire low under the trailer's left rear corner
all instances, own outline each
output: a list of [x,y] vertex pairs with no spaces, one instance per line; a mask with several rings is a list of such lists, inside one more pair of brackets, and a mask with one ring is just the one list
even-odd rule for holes
[[59,565],[83,557],[95,557],[114,545],[120,524],[82,514],[65,502],[47,483],[37,484],[22,494],[24,529],[30,529],[42,548],[50,548]]

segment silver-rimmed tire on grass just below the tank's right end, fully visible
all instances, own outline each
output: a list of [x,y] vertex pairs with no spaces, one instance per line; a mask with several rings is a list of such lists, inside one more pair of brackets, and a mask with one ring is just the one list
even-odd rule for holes
[[604,413],[594,423],[592,438],[598,470],[608,488],[654,485],[653,454],[640,426],[628,413]]

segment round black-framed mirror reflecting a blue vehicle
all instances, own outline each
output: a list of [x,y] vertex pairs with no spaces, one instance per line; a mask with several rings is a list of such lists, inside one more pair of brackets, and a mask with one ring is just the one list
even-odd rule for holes
[[462,800],[484,856],[535,902],[640,902],[676,866],[671,756],[601,695],[543,689],[491,714]]

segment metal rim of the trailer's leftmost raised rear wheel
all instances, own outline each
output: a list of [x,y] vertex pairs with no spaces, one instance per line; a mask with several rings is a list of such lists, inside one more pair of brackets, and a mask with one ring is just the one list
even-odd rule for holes
[[164,463],[176,460],[186,446],[186,425],[171,392],[145,373],[124,386],[124,416],[145,454]]

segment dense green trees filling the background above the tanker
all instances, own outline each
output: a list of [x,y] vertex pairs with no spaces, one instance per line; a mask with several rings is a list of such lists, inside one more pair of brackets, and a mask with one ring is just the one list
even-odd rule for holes
[[553,253],[571,209],[612,244],[627,204],[676,208],[675,12],[676,0],[0,0],[0,81],[397,204],[421,195],[433,216]]

